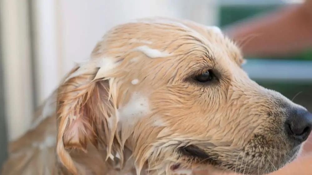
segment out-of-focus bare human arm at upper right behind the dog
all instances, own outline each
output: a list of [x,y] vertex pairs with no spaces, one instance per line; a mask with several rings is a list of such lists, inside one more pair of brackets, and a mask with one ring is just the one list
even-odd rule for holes
[[312,0],[227,26],[247,57],[287,55],[312,48]]

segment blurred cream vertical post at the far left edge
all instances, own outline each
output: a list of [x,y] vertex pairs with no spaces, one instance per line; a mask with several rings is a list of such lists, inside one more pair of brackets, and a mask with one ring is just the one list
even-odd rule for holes
[[32,121],[31,42],[28,2],[1,0],[0,3],[2,76],[7,136],[10,141],[25,133]]

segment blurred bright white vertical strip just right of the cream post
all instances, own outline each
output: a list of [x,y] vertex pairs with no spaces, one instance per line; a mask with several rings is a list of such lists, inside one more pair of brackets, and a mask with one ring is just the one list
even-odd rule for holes
[[[39,106],[56,89],[62,68],[62,38],[58,23],[62,12],[58,4],[62,0],[32,0],[34,75],[36,104]],[[76,3],[76,2],[73,2]],[[62,27],[62,26],[61,26]],[[83,42],[83,41],[80,41]],[[37,106],[37,107],[38,107]]]

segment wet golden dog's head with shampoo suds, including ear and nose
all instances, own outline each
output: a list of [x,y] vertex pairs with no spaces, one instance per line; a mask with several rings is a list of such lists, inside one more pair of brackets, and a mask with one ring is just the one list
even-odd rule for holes
[[252,81],[243,62],[216,27],[167,18],[116,26],[59,87],[59,159],[75,172],[67,149],[93,145],[121,162],[129,149],[137,172],[283,167],[310,134],[311,114]]

